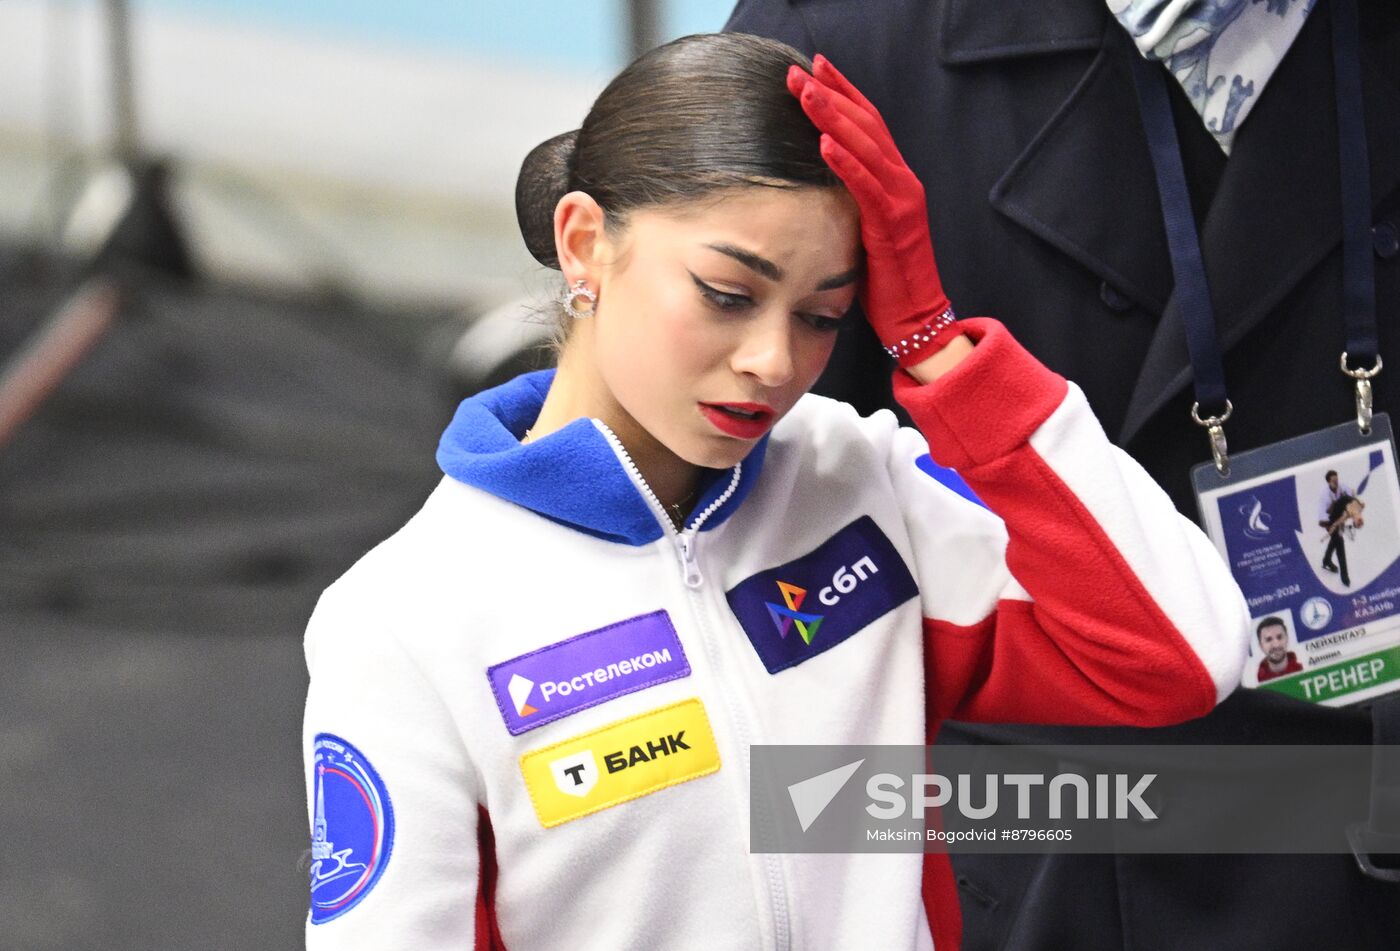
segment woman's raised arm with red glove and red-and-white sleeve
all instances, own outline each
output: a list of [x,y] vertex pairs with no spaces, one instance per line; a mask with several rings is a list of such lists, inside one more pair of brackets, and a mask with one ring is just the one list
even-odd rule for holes
[[995,321],[955,318],[923,186],[874,105],[820,56],[811,76],[794,67],[788,88],[860,206],[861,303],[900,367],[895,395],[932,457],[1005,522],[1004,536],[972,522],[920,525],[937,518],[909,464],[921,447],[895,440],[892,475],[920,559],[931,723],[1154,726],[1208,711],[1239,683],[1247,639],[1219,556],[1109,443],[1078,388]]

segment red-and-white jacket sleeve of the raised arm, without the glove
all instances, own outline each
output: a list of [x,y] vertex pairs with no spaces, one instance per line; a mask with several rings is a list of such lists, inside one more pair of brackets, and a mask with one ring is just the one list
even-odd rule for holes
[[895,394],[934,459],[1004,522],[1005,574],[959,590],[930,577],[956,552],[916,552],[930,724],[1162,726],[1207,713],[1239,683],[1249,636],[1224,560],[1109,443],[1077,387],[1001,324],[960,326],[973,353],[928,385],[896,371]]

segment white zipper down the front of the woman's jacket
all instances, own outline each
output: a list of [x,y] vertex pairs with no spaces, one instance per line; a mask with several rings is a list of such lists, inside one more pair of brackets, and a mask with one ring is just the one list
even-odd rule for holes
[[[734,475],[729,478],[729,486],[722,493],[720,493],[720,497],[711,501],[708,506],[706,506],[704,511],[696,515],[683,531],[678,532],[676,527],[671,522],[671,517],[666,515],[666,508],[665,506],[661,504],[661,499],[658,499],[657,493],[651,490],[650,485],[647,485],[647,480],[643,478],[641,471],[637,468],[637,464],[633,462],[631,455],[623,447],[622,440],[617,438],[617,434],[613,433],[612,429],[599,419],[595,419],[594,424],[602,431],[605,437],[608,437],[609,445],[612,445],[613,452],[617,454],[617,458],[622,459],[623,468],[627,469],[627,475],[631,478],[633,485],[637,486],[637,490],[641,492],[643,497],[647,500],[647,504],[651,507],[651,511],[657,517],[657,521],[661,522],[662,531],[665,531],[666,535],[671,536],[672,543],[675,545],[676,549],[676,555],[680,557],[680,573],[685,577],[686,587],[690,588],[690,594],[696,598],[697,602],[694,605],[696,623],[700,626],[703,641],[706,643],[706,647],[710,651],[710,664],[711,667],[718,669],[721,667],[717,662],[715,657],[718,646],[710,636],[708,625],[706,623],[704,594],[700,591],[700,587],[704,584],[704,577],[700,574],[700,563],[696,559],[696,542],[699,538],[700,528],[706,524],[706,521],[708,521],[708,518],[714,515],[714,513],[717,513],[724,506],[724,503],[727,503],[734,496],[735,490],[738,490],[739,476],[743,472],[743,464],[742,462],[735,464]],[[722,681],[724,678],[721,678],[721,682],[717,686],[727,693],[729,688]],[[752,769],[749,763],[749,748],[753,741],[749,737],[748,727],[739,717],[738,704],[735,704],[731,700],[727,703],[727,706],[729,707],[729,711],[732,714],[731,723],[734,723],[735,738],[739,742],[739,749],[743,751],[743,769],[745,772],[748,772],[749,769]],[[788,912],[787,912],[787,887],[784,885],[783,870],[778,863],[780,863],[778,856],[773,853],[763,856],[763,867],[764,871],[767,873],[769,901],[773,912],[773,944],[777,951],[788,951],[792,943],[792,936],[790,933],[791,926],[788,922]]]

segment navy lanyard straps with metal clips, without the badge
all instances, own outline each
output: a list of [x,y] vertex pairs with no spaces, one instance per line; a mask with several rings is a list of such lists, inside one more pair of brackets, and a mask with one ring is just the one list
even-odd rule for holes
[[[1365,116],[1361,104],[1359,28],[1355,0],[1333,4],[1331,59],[1337,87],[1337,139],[1341,167],[1343,223],[1343,319],[1347,349],[1341,353],[1341,371],[1355,380],[1357,426],[1371,434],[1371,378],[1380,373],[1376,343],[1375,262],[1371,256],[1371,165],[1366,155]],[[1191,419],[1204,426],[1211,443],[1215,469],[1229,475],[1225,420],[1233,406],[1225,392],[1225,368],[1215,336],[1215,312],[1211,305],[1205,263],[1201,258],[1196,218],[1186,189],[1182,150],[1168,101],[1165,69],[1131,56],[1133,80],[1142,112],[1142,126],[1166,225],[1166,241],[1176,280],[1176,301],[1186,325],[1186,345],[1191,359],[1196,403]],[[1352,370],[1355,361],[1371,368]],[[1201,412],[1207,416],[1201,416]]]

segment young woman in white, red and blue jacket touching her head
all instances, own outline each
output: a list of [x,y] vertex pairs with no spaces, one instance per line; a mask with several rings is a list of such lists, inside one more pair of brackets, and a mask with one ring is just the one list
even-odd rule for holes
[[[1078,387],[955,314],[834,64],[686,36],[580,119],[517,189],[557,370],[459,406],[307,632],[307,944],[951,951],[946,854],[750,853],[749,748],[1198,717],[1240,591]],[[917,429],[808,392],[855,319]]]

